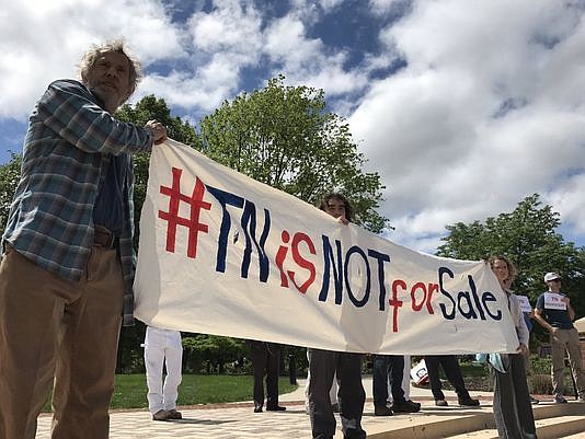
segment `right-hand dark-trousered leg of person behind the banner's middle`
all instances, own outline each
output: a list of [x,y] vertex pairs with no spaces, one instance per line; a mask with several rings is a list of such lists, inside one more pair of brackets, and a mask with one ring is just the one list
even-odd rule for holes
[[337,398],[343,436],[347,439],[365,438],[366,431],[362,428],[362,416],[366,392],[362,383],[362,355],[341,353],[336,374],[340,380]]

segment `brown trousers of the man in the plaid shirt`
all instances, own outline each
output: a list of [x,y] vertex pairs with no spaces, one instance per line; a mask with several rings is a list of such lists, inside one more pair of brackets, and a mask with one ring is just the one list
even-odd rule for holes
[[51,384],[53,439],[104,439],[122,323],[117,252],[60,278],[7,247],[0,264],[0,438],[34,439]]

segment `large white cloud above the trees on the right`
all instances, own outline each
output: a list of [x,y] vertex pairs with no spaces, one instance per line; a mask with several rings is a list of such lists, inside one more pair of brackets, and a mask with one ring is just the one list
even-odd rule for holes
[[548,1],[418,1],[380,32],[408,67],[372,83],[349,123],[388,187],[390,239],[431,251],[446,224],[511,211],[532,193],[583,232],[577,12]]

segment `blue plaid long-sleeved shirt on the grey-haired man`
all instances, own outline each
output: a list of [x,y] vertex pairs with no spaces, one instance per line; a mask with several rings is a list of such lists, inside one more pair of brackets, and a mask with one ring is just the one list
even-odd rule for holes
[[150,128],[116,120],[82,83],[53,82],[28,119],[22,174],[2,236],[42,268],[78,281],[93,244],[93,208],[113,155],[123,158],[124,228],[119,254],[124,273],[124,323],[134,321],[133,163],[149,151]]

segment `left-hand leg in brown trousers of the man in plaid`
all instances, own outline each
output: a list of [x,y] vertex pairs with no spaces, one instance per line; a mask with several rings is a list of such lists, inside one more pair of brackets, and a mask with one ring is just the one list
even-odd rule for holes
[[7,247],[0,263],[0,438],[36,435],[73,286]]

